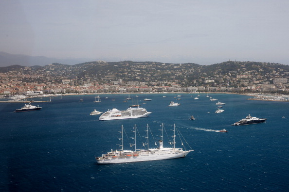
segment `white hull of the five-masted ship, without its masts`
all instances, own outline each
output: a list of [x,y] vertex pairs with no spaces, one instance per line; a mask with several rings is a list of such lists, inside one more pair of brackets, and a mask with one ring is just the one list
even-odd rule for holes
[[154,152],[147,152],[144,154],[139,154],[138,156],[126,156],[108,159],[97,159],[98,164],[110,164],[110,163],[126,163],[126,162],[139,162],[139,161],[150,161],[150,160],[168,160],[185,157],[190,151],[183,151],[181,153],[171,153],[171,154],[158,154]]

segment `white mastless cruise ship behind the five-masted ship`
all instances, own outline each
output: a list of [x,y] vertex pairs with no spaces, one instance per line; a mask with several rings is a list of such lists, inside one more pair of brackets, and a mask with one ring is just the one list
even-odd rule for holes
[[137,108],[128,108],[125,111],[119,111],[115,108],[108,110],[100,115],[100,121],[104,120],[116,120],[116,119],[131,119],[139,117],[147,117],[151,112],[147,112],[146,109],[137,107]]

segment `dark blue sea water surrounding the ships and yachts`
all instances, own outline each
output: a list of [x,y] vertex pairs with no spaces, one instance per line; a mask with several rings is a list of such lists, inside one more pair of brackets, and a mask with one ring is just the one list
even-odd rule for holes
[[[43,107],[40,111],[22,113],[14,112],[22,103],[0,103],[0,191],[288,191],[289,102],[211,94],[226,103],[224,112],[215,113],[217,101],[210,101],[205,94],[198,100],[194,99],[196,94],[181,95],[178,107],[167,107],[175,94],[130,95],[140,104],[145,97],[151,98],[143,107],[152,114],[113,121],[98,121],[99,115],[91,116],[90,112],[114,107],[125,110],[132,104],[123,102],[126,95],[101,95],[101,103],[93,102],[94,95],[56,96],[53,102],[33,103]],[[231,126],[249,113],[268,120]],[[192,114],[195,121],[189,120]],[[173,160],[96,163],[94,155],[119,149],[121,125],[131,140],[134,124],[142,135],[149,124],[158,138],[161,123],[169,135],[176,124],[195,151]],[[215,132],[223,128],[228,132]],[[132,141],[125,142],[125,148],[130,149]],[[164,145],[169,147],[166,141]],[[151,143],[150,147],[155,146]]]

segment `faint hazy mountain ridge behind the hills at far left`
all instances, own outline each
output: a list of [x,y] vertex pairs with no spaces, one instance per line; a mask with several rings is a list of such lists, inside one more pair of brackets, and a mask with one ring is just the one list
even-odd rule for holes
[[44,66],[47,64],[61,63],[61,64],[79,64],[87,62],[87,58],[77,58],[77,59],[57,59],[49,58],[45,56],[29,56],[21,54],[10,54],[0,51],[0,67],[10,66],[10,65],[21,65],[21,66],[34,66],[40,65]]

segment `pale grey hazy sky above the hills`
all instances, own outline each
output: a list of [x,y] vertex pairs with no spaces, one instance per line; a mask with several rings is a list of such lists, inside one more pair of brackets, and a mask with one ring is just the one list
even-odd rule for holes
[[0,0],[0,51],[289,64],[289,0]]

